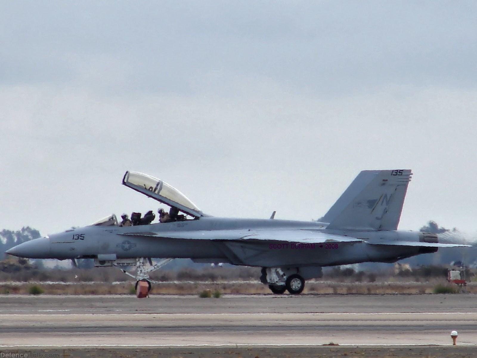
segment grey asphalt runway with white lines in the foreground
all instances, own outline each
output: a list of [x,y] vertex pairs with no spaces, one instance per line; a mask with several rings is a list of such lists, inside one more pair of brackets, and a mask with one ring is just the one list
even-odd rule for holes
[[448,347],[452,330],[477,345],[476,295],[0,295],[0,350]]

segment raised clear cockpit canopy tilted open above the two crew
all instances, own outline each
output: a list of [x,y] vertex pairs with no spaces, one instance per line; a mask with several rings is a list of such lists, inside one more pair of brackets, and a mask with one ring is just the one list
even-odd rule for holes
[[166,205],[176,207],[187,215],[196,218],[204,216],[202,211],[179,190],[150,175],[126,171],[123,184]]

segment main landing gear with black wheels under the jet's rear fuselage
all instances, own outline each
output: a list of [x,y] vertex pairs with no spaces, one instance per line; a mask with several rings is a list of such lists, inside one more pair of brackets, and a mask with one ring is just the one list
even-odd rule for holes
[[268,283],[270,291],[274,294],[281,295],[285,291],[292,295],[299,295],[305,288],[305,280],[299,274],[293,274],[292,271],[285,270],[280,267],[262,267],[262,275],[260,281],[264,284]]

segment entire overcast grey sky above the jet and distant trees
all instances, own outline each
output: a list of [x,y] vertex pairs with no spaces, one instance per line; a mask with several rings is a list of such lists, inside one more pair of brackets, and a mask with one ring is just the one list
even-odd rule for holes
[[477,232],[475,1],[1,1],[0,230],[160,206],[321,217],[413,169],[400,229]]

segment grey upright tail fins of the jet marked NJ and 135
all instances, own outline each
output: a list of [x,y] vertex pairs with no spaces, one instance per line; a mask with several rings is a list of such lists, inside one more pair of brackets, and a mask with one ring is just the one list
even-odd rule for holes
[[327,229],[396,230],[410,169],[363,170],[322,218]]

